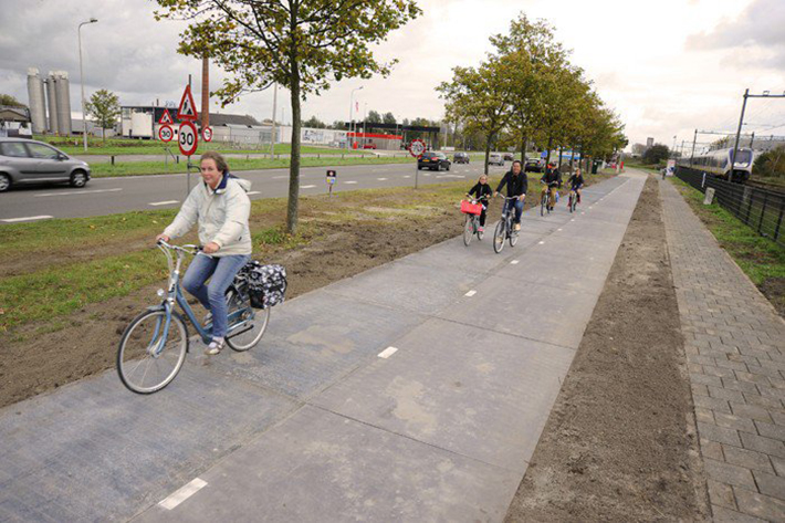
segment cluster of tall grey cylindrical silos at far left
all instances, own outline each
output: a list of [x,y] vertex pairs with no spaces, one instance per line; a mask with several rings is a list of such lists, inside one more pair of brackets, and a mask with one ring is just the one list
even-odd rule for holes
[[71,86],[69,73],[52,71],[45,79],[39,70],[28,70],[28,95],[30,97],[30,119],[32,132],[70,136]]

